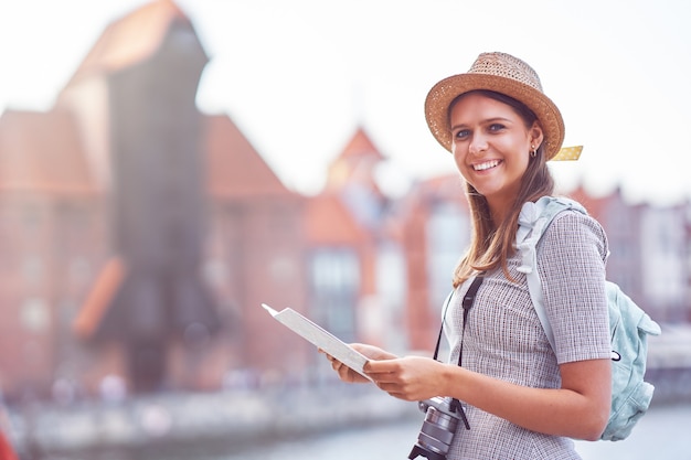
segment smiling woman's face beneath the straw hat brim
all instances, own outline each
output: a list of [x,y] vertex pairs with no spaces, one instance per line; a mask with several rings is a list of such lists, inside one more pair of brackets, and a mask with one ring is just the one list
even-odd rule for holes
[[476,93],[457,100],[449,117],[458,171],[490,207],[504,210],[515,200],[542,129],[536,122],[527,127],[511,106]]

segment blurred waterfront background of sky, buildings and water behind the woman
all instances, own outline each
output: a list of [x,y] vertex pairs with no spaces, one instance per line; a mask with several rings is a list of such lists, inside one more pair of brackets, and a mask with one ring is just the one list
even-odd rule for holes
[[0,428],[18,456],[405,458],[416,405],[338,382],[261,303],[430,354],[469,220],[422,106],[506,51],[585,146],[552,165],[560,191],[663,330],[650,413],[578,449],[691,458],[691,7],[600,3],[1,4]]

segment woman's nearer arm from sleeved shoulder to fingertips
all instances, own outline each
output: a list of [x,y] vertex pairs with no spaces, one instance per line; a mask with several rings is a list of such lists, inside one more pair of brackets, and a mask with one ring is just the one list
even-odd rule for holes
[[406,400],[450,396],[530,430],[599,438],[612,398],[604,290],[606,240],[595,222],[575,214],[556,221],[544,239],[549,253],[539,267],[546,279],[549,314],[561,339],[556,353],[562,362],[560,388],[521,386],[412,357],[370,362],[365,372],[382,389]]

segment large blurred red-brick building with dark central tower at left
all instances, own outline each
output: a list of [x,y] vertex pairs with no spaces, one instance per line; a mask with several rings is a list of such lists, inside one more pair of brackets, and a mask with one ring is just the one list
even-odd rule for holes
[[[47,114],[0,118],[2,388],[217,388],[285,367],[262,301],[304,308],[305,199],[226,116],[200,114],[208,56],[156,1],[111,23]],[[296,363],[281,351],[295,346]]]

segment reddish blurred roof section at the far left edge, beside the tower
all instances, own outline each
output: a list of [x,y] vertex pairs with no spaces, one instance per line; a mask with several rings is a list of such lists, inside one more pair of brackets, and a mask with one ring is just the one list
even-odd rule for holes
[[68,111],[9,110],[0,116],[0,191],[53,195],[97,192]]

